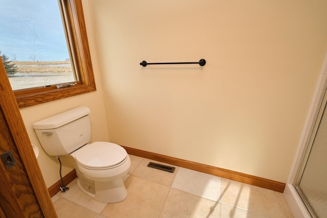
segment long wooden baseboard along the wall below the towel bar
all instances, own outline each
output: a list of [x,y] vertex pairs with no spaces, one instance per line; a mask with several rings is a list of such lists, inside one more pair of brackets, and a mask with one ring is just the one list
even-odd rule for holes
[[273,180],[268,180],[260,177],[255,177],[245,173],[223,169],[215,166],[200,164],[192,161],[186,161],[178,158],[172,158],[165,155],[159,155],[149,151],[139,150],[139,149],[125,147],[125,146],[122,147],[124,147],[127,153],[130,155],[135,155],[138,157],[147,158],[154,161],[159,161],[167,164],[172,164],[175,166],[196,170],[199,172],[208,173],[214,176],[235,180],[250,185],[255,185],[255,186],[267,188],[282,193],[284,192],[285,189],[285,183],[276,182]]

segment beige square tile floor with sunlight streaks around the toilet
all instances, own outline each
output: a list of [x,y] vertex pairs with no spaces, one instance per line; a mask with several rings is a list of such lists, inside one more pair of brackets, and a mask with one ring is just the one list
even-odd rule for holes
[[130,158],[124,201],[97,202],[75,179],[52,198],[58,217],[293,217],[282,193],[182,167],[162,171],[147,167],[149,159]]

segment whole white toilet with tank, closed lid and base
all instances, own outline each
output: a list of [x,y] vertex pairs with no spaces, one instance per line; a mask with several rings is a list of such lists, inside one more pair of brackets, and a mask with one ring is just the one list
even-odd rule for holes
[[90,110],[73,110],[33,123],[41,146],[48,155],[69,155],[75,159],[78,187],[89,197],[105,203],[127,197],[123,177],[131,165],[126,150],[110,142],[90,140]]

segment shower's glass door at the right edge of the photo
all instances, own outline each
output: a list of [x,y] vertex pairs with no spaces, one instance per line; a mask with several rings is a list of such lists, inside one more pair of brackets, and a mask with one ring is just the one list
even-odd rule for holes
[[312,217],[327,217],[326,94],[317,116],[295,188]]

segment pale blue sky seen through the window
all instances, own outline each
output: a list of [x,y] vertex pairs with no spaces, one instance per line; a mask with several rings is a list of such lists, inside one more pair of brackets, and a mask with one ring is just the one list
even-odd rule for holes
[[14,61],[62,61],[69,54],[56,0],[0,0],[0,51]]

